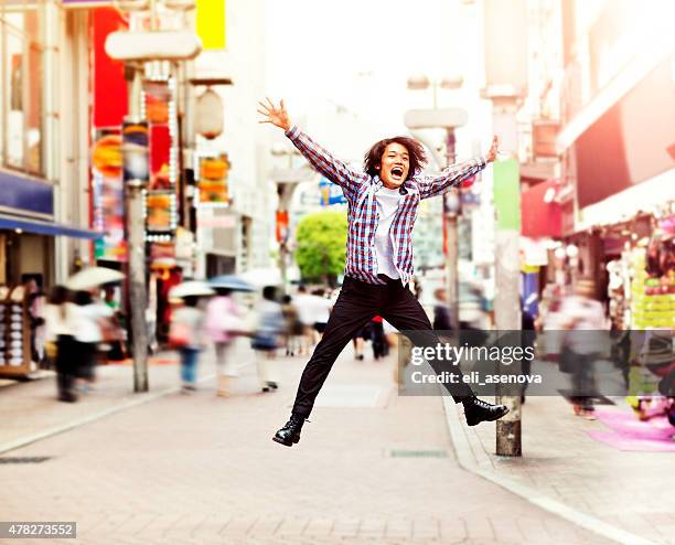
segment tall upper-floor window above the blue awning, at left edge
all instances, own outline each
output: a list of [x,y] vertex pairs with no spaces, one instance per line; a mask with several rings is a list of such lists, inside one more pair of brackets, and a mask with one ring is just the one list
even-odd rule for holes
[[18,0],[0,11],[0,157],[3,167],[43,172],[42,43],[34,4]]

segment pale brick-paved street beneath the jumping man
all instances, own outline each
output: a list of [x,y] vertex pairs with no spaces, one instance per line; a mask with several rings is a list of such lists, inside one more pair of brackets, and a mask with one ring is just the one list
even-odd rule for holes
[[52,458],[0,464],[0,519],[75,520],[92,544],[610,543],[463,471],[440,399],[349,352],[300,445],[274,444],[302,364],[279,361],[276,394],[246,366],[231,398],[208,382],[12,451]]

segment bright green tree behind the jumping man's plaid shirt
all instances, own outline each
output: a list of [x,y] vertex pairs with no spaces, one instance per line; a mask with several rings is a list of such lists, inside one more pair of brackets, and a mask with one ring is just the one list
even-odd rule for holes
[[296,263],[302,278],[335,286],[346,260],[346,213],[317,212],[298,224]]

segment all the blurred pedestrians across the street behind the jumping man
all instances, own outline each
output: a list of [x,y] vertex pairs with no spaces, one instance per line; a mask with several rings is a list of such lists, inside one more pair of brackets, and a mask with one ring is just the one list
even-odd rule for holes
[[[216,394],[223,397],[236,389],[245,366],[245,362],[238,361],[240,352],[234,350],[235,343],[247,344],[253,350],[259,391],[275,392],[279,387],[279,361],[283,356],[311,355],[321,342],[339,295],[339,289],[314,287],[310,290],[302,285],[288,295],[275,286],[238,290],[189,281],[182,287],[189,289],[179,289],[170,298],[168,345],[180,354],[181,389],[185,394],[196,389],[200,357],[206,350],[213,350]],[[44,352],[56,371],[60,400],[75,402],[78,395],[90,391],[97,363],[129,356],[124,314],[118,304],[119,289],[118,285],[87,290],[56,286],[46,304],[41,304],[41,336]],[[446,290],[432,291],[432,306],[427,310],[441,340],[458,329],[462,339],[469,333],[485,333],[490,317],[480,304],[480,293],[469,293],[471,297],[467,293],[460,304],[460,319],[454,320]],[[621,371],[625,391],[631,394],[629,403],[641,418],[646,418],[662,398],[667,405],[665,409],[675,417],[671,332],[645,334],[614,330],[606,306],[596,298],[592,280],[580,279],[571,291],[559,289],[546,295],[536,313],[522,301],[521,325],[523,344],[539,344],[537,354],[555,362],[558,371],[568,377],[568,397],[576,415],[594,418],[594,403],[602,397],[596,381],[597,363],[609,361]],[[364,361],[368,344],[372,360],[376,362],[394,351],[405,350],[397,333],[386,320],[375,316],[352,339],[354,359]],[[475,340],[475,335],[471,339]],[[405,353],[401,362],[396,359],[395,376],[399,384],[405,360]],[[522,373],[531,374],[532,363],[523,361]],[[636,386],[636,381],[642,380],[639,372],[656,374],[661,398],[643,395],[641,386]],[[525,388],[522,402],[525,402]]]

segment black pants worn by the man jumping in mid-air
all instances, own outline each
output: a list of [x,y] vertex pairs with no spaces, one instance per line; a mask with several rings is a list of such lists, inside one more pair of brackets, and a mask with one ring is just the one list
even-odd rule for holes
[[[436,346],[439,342],[426,312],[400,280],[388,280],[386,285],[381,286],[345,277],[323,338],[302,372],[293,413],[309,417],[314,399],[340,352],[364,323],[377,314],[404,332],[416,346]],[[459,367],[448,362],[437,360],[430,363],[437,373],[451,371],[461,374]],[[461,377],[458,384],[444,386],[457,403],[473,396],[471,388]]]

